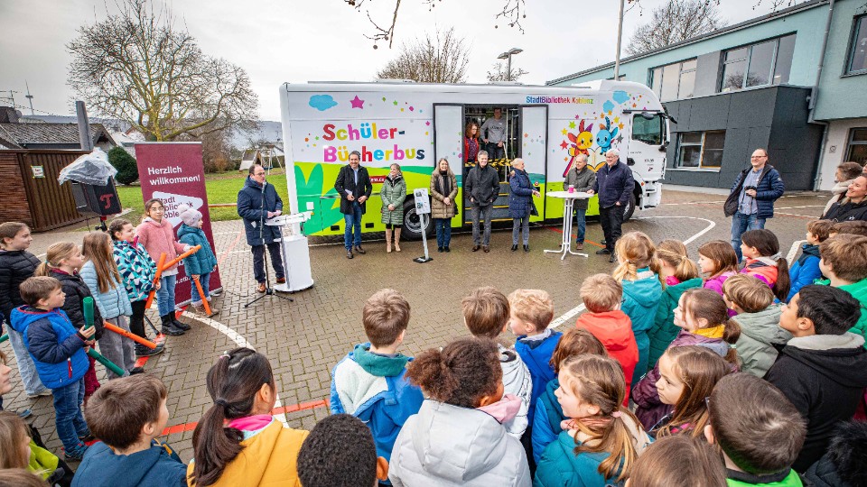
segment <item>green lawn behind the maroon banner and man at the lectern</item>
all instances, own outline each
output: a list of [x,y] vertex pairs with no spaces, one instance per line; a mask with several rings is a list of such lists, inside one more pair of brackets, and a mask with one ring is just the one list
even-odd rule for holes
[[[247,179],[247,172],[222,172],[217,174],[205,174],[205,188],[208,190],[208,203],[210,205],[218,203],[235,203],[238,201],[238,191],[244,186],[244,180]],[[284,170],[271,170],[271,175],[268,177],[268,184],[273,184],[280,198],[284,199],[284,206],[288,207],[286,201],[286,178]],[[133,213],[130,217],[136,220],[135,215],[144,214],[144,199],[142,198],[142,188],[138,186],[118,186],[117,194],[120,196],[121,205],[126,208],[133,208]],[[220,222],[224,220],[237,220],[238,212],[235,207],[225,208],[210,208],[211,221]]]

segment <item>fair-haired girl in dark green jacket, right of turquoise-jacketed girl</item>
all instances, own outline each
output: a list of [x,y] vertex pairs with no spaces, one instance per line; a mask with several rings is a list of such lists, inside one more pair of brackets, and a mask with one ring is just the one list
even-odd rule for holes
[[675,308],[680,295],[686,289],[702,287],[698,277],[698,266],[690,260],[684,243],[677,240],[663,240],[657,245],[657,258],[662,271],[659,276],[666,280],[662,299],[659,300],[657,314],[653,326],[648,330],[650,338],[650,353],[648,366],[643,371],[637,371],[639,376],[652,369],[659,357],[666,352],[668,345],[674,341],[680,328],[675,325]]

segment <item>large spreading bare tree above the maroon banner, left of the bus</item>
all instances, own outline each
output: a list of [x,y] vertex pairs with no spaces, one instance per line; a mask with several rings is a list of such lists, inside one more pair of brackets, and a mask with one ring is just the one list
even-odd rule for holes
[[124,0],[121,12],[84,25],[66,45],[69,83],[99,115],[132,124],[150,141],[200,137],[256,120],[247,72],[200,50],[167,8]]

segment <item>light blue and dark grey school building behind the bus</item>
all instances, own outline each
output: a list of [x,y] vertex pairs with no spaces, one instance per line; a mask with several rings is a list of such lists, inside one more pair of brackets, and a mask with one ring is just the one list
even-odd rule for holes
[[[605,64],[549,81],[614,77]],[[811,0],[621,60],[671,116],[666,181],[728,188],[767,148],[788,189],[828,189],[867,162],[867,4]]]

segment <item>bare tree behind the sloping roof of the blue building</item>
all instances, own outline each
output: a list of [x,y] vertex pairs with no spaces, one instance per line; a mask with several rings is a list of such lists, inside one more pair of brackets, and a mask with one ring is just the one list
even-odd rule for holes
[[632,33],[626,53],[653,51],[725,26],[718,6],[713,0],[668,0],[653,9],[650,22]]

